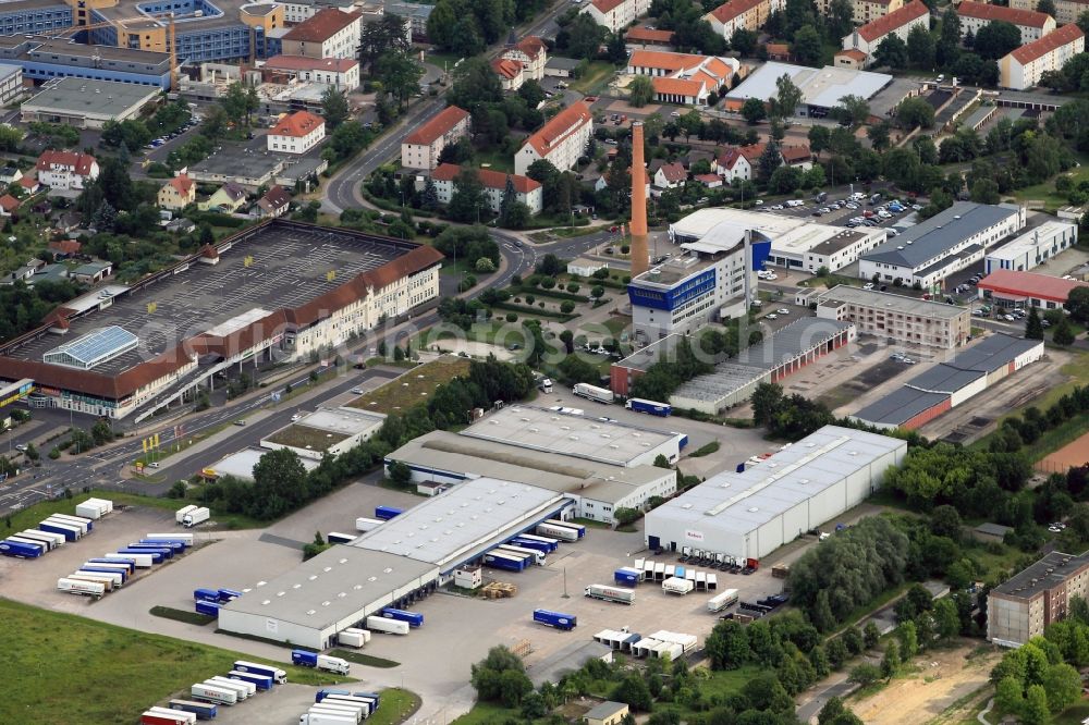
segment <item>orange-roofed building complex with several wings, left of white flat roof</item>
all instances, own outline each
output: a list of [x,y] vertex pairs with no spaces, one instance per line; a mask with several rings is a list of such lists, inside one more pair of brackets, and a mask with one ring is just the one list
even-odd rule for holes
[[653,78],[654,98],[666,103],[706,105],[719,88],[741,70],[733,58],[636,50],[627,61],[627,72]]

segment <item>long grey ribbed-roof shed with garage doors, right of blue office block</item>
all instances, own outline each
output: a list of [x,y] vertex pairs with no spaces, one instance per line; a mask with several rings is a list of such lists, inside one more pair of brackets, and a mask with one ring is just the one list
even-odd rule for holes
[[761,383],[776,382],[855,339],[849,321],[806,317],[746,347],[712,372],[684,382],[670,396],[675,408],[719,415],[748,400]]

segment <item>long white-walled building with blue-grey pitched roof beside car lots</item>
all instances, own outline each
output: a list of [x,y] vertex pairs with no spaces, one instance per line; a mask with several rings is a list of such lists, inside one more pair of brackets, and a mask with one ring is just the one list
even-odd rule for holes
[[1025,226],[1025,209],[957,201],[861,256],[858,275],[932,287]]

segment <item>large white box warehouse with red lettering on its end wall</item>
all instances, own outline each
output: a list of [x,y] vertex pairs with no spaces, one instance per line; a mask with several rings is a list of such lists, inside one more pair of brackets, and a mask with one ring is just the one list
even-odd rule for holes
[[650,550],[760,560],[861,503],[905,441],[825,426],[743,472],[719,474],[647,514]]

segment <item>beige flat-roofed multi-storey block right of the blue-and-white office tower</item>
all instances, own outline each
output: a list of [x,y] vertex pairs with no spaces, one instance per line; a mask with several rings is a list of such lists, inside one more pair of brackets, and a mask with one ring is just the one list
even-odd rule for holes
[[860,334],[942,349],[971,334],[967,307],[844,284],[817,296],[817,317],[854,322]]

